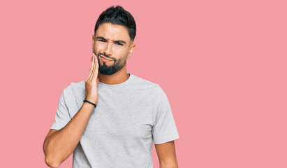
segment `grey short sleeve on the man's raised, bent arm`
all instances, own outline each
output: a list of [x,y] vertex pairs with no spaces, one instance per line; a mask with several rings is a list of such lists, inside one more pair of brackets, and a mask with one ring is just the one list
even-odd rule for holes
[[57,113],[54,118],[54,123],[50,129],[61,130],[65,127],[68,122],[71,120],[70,114],[68,112],[68,108],[65,102],[65,90],[61,93],[61,97],[59,99],[59,103],[57,106]]

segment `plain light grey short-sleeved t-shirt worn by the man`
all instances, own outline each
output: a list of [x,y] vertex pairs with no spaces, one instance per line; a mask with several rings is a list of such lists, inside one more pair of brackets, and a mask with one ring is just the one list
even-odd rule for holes
[[[152,168],[152,141],[179,139],[165,92],[158,84],[129,74],[124,83],[98,83],[98,103],[73,152],[73,168]],[[70,83],[50,129],[65,127],[84,98],[84,80]]]

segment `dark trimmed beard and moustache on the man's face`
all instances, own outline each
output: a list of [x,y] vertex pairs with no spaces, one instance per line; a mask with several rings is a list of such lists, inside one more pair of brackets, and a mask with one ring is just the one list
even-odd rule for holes
[[[95,55],[96,55],[96,53],[95,53]],[[103,55],[104,57],[107,57],[107,55],[105,55],[104,53],[101,53],[101,52],[99,52],[96,55],[98,58],[98,72],[102,73],[103,75],[112,75],[112,74],[116,73],[117,71],[121,70],[124,67],[124,65],[126,64],[126,59],[124,59],[124,58],[115,59],[115,58],[111,58],[111,57],[107,57],[107,58],[113,59],[114,64],[107,65],[107,64],[105,64],[105,62],[103,62],[103,64],[101,64],[100,55]]]

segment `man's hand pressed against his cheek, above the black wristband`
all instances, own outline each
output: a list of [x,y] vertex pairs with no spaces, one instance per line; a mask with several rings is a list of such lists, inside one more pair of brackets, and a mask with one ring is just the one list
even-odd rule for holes
[[96,104],[98,102],[98,58],[91,56],[91,69],[89,76],[84,80],[86,87],[86,98],[89,102]]

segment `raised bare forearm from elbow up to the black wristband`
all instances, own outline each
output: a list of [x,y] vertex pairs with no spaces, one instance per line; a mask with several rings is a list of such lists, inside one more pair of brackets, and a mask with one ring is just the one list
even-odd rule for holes
[[87,126],[94,106],[84,102],[78,113],[61,130],[51,134],[44,142],[45,160],[52,165],[61,165],[78,145]]

